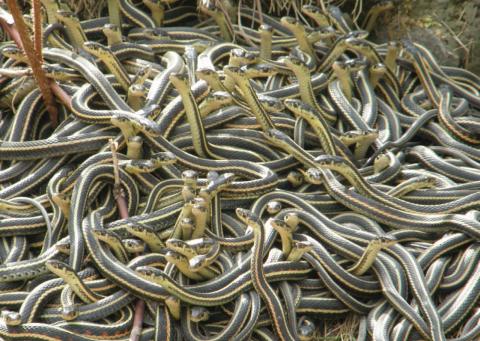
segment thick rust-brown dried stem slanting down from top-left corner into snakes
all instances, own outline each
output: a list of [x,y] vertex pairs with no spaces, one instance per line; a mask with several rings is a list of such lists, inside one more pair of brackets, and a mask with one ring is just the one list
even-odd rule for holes
[[[34,0],[34,3],[36,1],[39,2],[39,0]],[[13,20],[15,21],[15,27],[17,28],[18,34],[20,36],[20,40],[22,44],[19,47],[23,47],[23,50],[27,55],[30,67],[32,68],[32,71],[33,71],[33,76],[37,81],[38,87],[45,101],[45,106],[47,107],[48,113],[50,114],[51,125],[53,127],[56,127],[58,123],[57,122],[58,111],[57,111],[57,107],[55,106],[55,99],[50,89],[51,80],[48,79],[45,73],[43,72],[42,60],[37,57],[37,52],[34,49],[33,42],[30,39],[30,36],[28,35],[27,25],[23,21],[22,13],[20,12],[20,9],[17,5],[16,0],[6,0],[6,2],[8,5],[8,9],[10,10],[10,13],[13,16]],[[34,11],[34,15],[35,14],[36,16],[41,18],[39,11],[36,11],[36,13]],[[38,18],[34,19],[34,23],[38,24],[40,20],[41,19],[38,19]],[[41,32],[40,32],[40,35],[41,35]],[[38,53],[41,55],[41,49],[40,51],[38,51]]]

